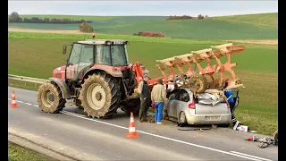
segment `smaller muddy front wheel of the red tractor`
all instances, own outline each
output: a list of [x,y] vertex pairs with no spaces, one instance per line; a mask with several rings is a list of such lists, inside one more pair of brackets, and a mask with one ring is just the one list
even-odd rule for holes
[[66,103],[61,89],[51,82],[46,82],[38,88],[37,97],[38,106],[45,113],[59,113]]

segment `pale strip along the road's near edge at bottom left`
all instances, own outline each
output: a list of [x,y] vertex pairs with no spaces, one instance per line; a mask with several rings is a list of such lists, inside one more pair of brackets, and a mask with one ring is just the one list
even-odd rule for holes
[[21,147],[34,150],[34,151],[36,151],[40,154],[43,154],[47,157],[55,158],[56,160],[79,161],[79,159],[76,159],[74,157],[59,153],[53,149],[46,148],[46,147],[39,145],[38,143],[36,143],[32,140],[28,140],[24,137],[21,137],[17,134],[9,132],[9,131],[8,131],[8,141],[13,142],[14,144],[20,145]]

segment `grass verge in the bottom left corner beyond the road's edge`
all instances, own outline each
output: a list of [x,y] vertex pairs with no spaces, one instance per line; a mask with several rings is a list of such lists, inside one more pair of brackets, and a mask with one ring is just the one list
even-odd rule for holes
[[48,161],[55,160],[51,157],[38,154],[38,152],[30,150],[29,148],[23,148],[12,142],[8,142],[8,161]]

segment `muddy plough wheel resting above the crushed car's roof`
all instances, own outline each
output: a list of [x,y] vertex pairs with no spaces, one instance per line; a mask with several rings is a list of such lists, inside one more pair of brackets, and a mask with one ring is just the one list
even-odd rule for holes
[[189,76],[189,88],[196,91],[197,93],[203,93],[207,89],[207,80],[204,75],[194,73]]

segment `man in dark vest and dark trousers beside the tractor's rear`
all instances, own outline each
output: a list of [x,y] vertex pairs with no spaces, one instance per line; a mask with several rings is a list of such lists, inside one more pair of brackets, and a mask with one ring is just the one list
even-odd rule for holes
[[147,122],[147,110],[150,104],[150,92],[148,86],[149,76],[144,75],[143,80],[139,83],[139,94],[140,94],[140,110],[139,110],[139,121]]

